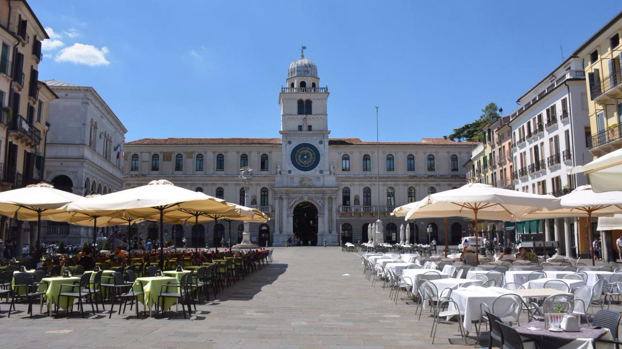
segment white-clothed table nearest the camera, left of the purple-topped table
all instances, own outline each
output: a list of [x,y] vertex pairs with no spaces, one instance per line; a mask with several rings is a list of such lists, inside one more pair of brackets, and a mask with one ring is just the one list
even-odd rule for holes
[[[468,288],[458,288],[452,291],[450,296],[463,315],[462,326],[466,332],[473,329],[473,321],[479,320],[481,317],[480,303],[486,304],[492,308],[494,300],[501,294],[513,293],[514,290],[503,289],[498,287],[484,288],[482,286],[470,286]],[[508,301],[510,301],[508,299]],[[449,309],[453,309],[453,304],[449,304]]]

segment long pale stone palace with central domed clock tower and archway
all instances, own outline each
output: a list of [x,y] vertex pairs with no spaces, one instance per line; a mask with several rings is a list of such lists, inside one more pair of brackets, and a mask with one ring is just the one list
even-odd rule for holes
[[[256,207],[271,217],[251,224],[251,240],[282,246],[289,237],[302,245],[367,240],[367,225],[383,220],[387,242],[399,240],[403,219],[391,217],[395,206],[466,183],[462,164],[474,142],[423,138],[420,142],[366,142],[331,138],[328,87],[320,85],[315,63],[292,61],[279,91],[280,137],[143,138],[127,142],[123,156],[124,189],[169,179],[228,202]],[[239,169],[249,166],[248,186]],[[378,171],[379,167],[379,171]],[[409,222],[411,242],[445,242],[443,219]],[[137,225],[142,238],[159,237],[158,225]],[[431,232],[428,232],[431,227]],[[406,228],[406,227],[405,227]],[[242,222],[196,226],[165,225],[165,239],[188,247],[220,247],[221,238],[241,241]],[[462,218],[448,219],[448,240],[455,244],[466,230]],[[230,235],[231,233],[231,235]]]

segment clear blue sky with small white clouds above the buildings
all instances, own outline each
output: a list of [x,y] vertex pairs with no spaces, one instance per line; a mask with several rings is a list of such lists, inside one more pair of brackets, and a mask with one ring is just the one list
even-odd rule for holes
[[[183,3],[183,5],[182,5]],[[30,0],[40,79],[93,86],[143,137],[279,137],[287,66],[327,85],[330,137],[442,137],[516,99],[622,9],[584,1]]]

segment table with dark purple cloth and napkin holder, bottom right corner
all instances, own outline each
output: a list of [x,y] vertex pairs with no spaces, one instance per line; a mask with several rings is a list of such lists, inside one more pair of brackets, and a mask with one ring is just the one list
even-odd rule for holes
[[588,349],[588,348],[613,348],[613,343],[598,343],[595,340],[602,338],[611,340],[611,332],[608,329],[594,328],[590,325],[580,325],[579,332],[552,332],[544,328],[544,321],[532,321],[515,327],[521,337],[534,340],[523,343],[525,349],[549,348],[549,349]]

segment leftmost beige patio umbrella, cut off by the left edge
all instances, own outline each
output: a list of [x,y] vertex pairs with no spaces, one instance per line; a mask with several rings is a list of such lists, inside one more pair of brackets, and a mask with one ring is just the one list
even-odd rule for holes
[[37,241],[41,236],[41,217],[64,212],[69,202],[83,199],[54,189],[52,184],[29,184],[26,188],[0,193],[0,214],[20,220],[37,220]]

